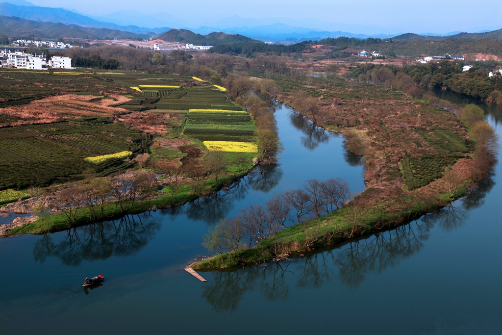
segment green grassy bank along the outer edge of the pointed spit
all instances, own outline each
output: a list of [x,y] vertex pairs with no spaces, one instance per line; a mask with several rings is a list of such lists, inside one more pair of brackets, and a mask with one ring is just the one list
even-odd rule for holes
[[[467,189],[462,187],[453,196],[442,193],[437,194],[434,199],[422,198],[413,201],[411,207],[405,212],[390,209],[388,212],[379,213],[370,207],[342,207],[326,216],[310,219],[280,231],[277,235],[260,241],[253,248],[227,252],[193,263],[189,267],[193,269],[231,268],[239,264],[258,264],[280,259],[286,255],[299,256],[301,253],[322,247],[336,246],[352,238],[360,238],[376,231],[406,224],[464,196],[466,191]],[[357,198],[354,201],[357,201]],[[354,210],[362,213],[355,222]]]

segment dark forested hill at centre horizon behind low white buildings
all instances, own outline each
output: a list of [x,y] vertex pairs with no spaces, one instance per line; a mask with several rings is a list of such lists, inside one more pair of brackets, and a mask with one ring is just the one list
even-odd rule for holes
[[230,35],[215,32],[207,35],[200,35],[186,29],[171,29],[157,37],[166,42],[191,43],[195,45],[218,45],[218,44],[240,44],[240,43],[263,43],[242,35]]

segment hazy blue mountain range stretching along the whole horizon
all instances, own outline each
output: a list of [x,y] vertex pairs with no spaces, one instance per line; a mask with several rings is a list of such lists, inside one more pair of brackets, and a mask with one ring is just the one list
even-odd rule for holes
[[[2,1],[2,0],[0,0]],[[0,3],[0,34],[8,37],[33,36],[36,38],[60,38],[60,37],[80,37],[80,38],[161,38],[169,41],[185,41],[199,45],[215,45],[221,43],[245,42],[245,38],[260,41],[271,41],[282,44],[294,44],[308,40],[322,40],[324,38],[337,38],[341,36],[354,37],[359,39],[389,38],[394,40],[423,40],[423,39],[502,39],[502,30],[480,32],[480,33],[449,33],[451,36],[441,36],[438,34],[402,34],[398,36],[376,34],[352,34],[344,31],[326,31],[320,29],[310,29],[305,27],[293,27],[284,23],[263,24],[270,22],[272,18],[261,20],[244,20],[238,16],[233,16],[224,20],[218,20],[215,24],[225,24],[226,28],[199,27],[197,29],[175,29],[170,32],[170,27],[184,27],[185,23],[178,18],[165,13],[152,13],[143,15],[137,11],[119,11],[105,16],[89,17],[76,13],[75,11],[62,8],[50,8],[35,6],[25,0],[8,0]],[[9,18],[6,18],[9,17]],[[12,18],[15,17],[15,18]],[[20,21],[25,19],[27,22]],[[282,18],[285,19],[286,18]],[[281,19],[281,20],[282,20]],[[284,21],[284,20],[282,20]],[[232,23],[246,22],[247,27],[230,26]],[[160,25],[157,28],[141,27],[143,23],[149,25]],[[223,27],[223,26],[222,26]],[[188,33],[189,32],[189,33]],[[214,32],[224,32],[221,35],[211,35]],[[161,35],[162,34],[162,35]],[[237,34],[229,38],[228,36]],[[160,36],[159,36],[160,35]],[[208,36],[209,35],[209,36]],[[427,36],[424,36],[427,35]],[[208,37],[206,37],[208,36]],[[217,37],[216,37],[217,36]],[[226,41],[226,42],[225,42]],[[233,43],[232,42],[232,43]]]

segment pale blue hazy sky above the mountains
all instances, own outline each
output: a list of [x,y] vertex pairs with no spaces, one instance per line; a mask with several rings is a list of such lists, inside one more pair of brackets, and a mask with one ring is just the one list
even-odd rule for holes
[[[1,1],[1,0],[0,0]],[[8,1],[8,0],[6,0]],[[102,16],[119,10],[167,13],[186,21],[187,27],[211,25],[219,19],[238,15],[245,19],[292,18],[291,25],[369,33],[447,33],[502,28],[502,1],[499,0],[28,0],[38,6],[75,9],[83,14]],[[294,23],[294,24],[293,24]],[[246,22],[242,22],[245,26]],[[359,28],[357,28],[359,27]],[[362,28],[364,27],[364,28]],[[180,27],[174,27],[180,28]]]

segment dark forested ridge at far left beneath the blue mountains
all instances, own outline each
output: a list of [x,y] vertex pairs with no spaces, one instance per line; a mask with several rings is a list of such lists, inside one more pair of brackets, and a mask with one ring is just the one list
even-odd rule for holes
[[106,28],[88,28],[62,23],[37,22],[0,16],[0,35],[13,38],[143,39],[144,35]]

